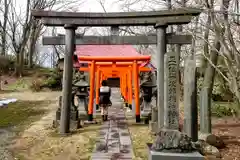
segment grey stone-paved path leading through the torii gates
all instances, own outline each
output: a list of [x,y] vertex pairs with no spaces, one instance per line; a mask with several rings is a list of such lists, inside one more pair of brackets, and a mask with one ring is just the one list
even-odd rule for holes
[[103,122],[100,129],[92,160],[131,160],[132,143],[122,103],[114,103],[108,114],[108,121]]

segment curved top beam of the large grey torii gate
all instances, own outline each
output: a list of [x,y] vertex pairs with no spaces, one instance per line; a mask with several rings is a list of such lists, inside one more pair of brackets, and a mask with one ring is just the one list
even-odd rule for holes
[[149,26],[187,24],[193,16],[201,13],[196,8],[178,8],[173,10],[147,12],[115,12],[115,13],[84,13],[84,12],[55,12],[33,10],[32,15],[40,18],[46,26]]

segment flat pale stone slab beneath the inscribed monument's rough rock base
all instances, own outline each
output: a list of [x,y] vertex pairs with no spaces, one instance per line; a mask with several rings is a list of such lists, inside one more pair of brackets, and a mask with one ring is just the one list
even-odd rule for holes
[[167,159],[167,160],[204,160],[204,156],[202,156],[199,152],[190,152],[190,153],[171,153],[171,152],[156,152],[151,150],[152,144],[147,144],[148,146],[148,159],[149,160],[159,160],[159,159]]

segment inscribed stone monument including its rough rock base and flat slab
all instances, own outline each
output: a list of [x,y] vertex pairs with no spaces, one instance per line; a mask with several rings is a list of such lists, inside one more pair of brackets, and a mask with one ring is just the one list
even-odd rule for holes
[[148,144],[149,160],[203,160],[196,151],[192,138],[179,131],[177,103],[177,57],[174,52],[165,55],[164,127],[157,132],[153,144]]

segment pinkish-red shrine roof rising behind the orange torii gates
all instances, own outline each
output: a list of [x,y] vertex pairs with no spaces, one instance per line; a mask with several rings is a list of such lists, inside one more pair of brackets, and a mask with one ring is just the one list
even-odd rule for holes
[[[122,56],[141,56],[140,53],[132,45],[77,45],[77,56],[107,56],[107,57],[122,57]],[[80,62],[81,63],[81,62]],[[143,63],[147,66],[149,63]],[[79,67],[80,64],[74,64],[74,67]],[[155,69],[151,65],[151,68]]]

